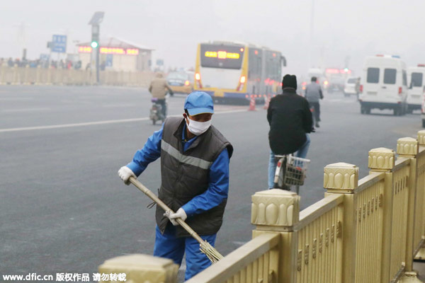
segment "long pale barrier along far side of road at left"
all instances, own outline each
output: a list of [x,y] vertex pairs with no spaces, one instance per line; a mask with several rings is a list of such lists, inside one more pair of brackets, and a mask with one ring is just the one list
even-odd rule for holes
[[[101,71],[99,79],[108,86],[149,86],[151,71]],[[90,70],[0,67],[0,85],[95,85],[96,73]]]

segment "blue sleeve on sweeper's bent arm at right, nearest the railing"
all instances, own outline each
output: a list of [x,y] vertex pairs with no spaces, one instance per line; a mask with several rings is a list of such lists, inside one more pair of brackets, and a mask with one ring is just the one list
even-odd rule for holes
[[200,195],[183,205],[188,217],[217,207],[229,192],[229,153],[224,149],[210,167],[210,185]]

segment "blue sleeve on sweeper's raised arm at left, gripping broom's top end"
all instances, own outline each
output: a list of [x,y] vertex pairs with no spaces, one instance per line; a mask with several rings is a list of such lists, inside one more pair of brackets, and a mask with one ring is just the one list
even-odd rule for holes
[[163,131],[164,124],[162,124],[161,129],[154,132],[154,134],[147,139],[143,149],[138,150],[133,160],[127,164],[127,167],[130,168],[136,176],[142,174],[149,163],[157,160],[161,156],[161,139]]

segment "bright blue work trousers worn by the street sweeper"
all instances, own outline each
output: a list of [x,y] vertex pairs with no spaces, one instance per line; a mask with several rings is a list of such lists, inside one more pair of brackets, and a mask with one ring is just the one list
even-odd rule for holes
[[[215,246],[217,234],[200,236],[204,241],[208,241],[211,246]],[[199,272],[211,265],[207,256],[200,252],[199,243],[193,237],[176,238],[176,227],[169,223],[164,234],[159,231],[155,236],[154,256],[169,258],[177,265],[181,265],[183,255],[186,252],[186,274],[185,281],[197,275]]]

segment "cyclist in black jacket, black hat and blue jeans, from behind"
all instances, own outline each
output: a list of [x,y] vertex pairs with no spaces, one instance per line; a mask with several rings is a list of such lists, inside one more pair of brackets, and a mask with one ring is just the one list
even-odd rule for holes
[[285,75],[282,94],[271,99],[267,110],[268,142],[270,162],[268,163],[268,187],[273,187],[276,171],[276,155],[293,154],[300,158],[307,156],[310,146],[309,134],[313,129],[312,112],[309,103],[297,95],[297,77]]

